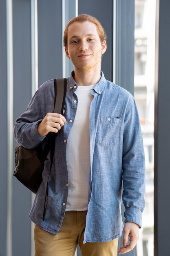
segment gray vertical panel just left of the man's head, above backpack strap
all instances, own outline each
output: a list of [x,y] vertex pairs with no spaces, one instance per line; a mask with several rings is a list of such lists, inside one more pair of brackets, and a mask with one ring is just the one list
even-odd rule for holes
[[38,1],[39,85],[62,77],[62,0]]

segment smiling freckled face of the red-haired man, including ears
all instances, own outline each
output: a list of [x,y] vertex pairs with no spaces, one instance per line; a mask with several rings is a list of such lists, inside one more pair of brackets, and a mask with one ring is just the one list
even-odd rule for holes
[[68,27],[66,56],[77,70],[101,67],[102,54],[106,51],[106,41],[101,42],[97,27],[92,22],[74,22]]

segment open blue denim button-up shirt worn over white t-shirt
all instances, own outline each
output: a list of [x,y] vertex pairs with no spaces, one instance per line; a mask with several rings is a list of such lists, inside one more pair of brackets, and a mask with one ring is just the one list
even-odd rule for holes
[[[145,160],[137,107],[129,92],[107,81],[101,74],[92,92],[94,98],[89,113],[91,177],[84,243],[106,242],[121,236],[122,198],[125,222],[135,222],[141,227],[144,209]],[[57,234],[62,225],[67,203],[66,145],[77,110],[76,89],[71,74],[67,79],[65,101],[67,123],[56,136],[45,219],[43,221],[42,216],[50,153],[29,215],[36,225],[52,234]],[[14,136],[18,143],[26,148],[34,148],[40,142],[44,145],[46,137],[38,134],[37,126],[47,112],[53,112],[53,105],[54,85],[50,80],[40,86],[26,112],[16,120]]]

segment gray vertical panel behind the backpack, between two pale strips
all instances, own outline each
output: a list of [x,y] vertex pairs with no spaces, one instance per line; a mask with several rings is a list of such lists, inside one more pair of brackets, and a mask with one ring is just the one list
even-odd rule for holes
[[[31,99],[30,1],[13,0],[13,118]],[[14,147],[16,141],[14,141]],[[31,192],[13,178],[13,256],[30,256]]]

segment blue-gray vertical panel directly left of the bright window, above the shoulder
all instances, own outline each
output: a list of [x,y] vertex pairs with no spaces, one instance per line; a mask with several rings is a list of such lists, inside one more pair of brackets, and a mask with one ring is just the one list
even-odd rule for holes
[[116,83],[134,94],[135,0],[117,1]]

